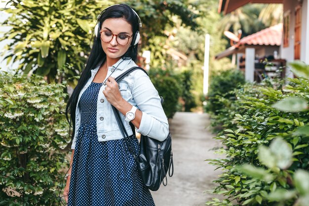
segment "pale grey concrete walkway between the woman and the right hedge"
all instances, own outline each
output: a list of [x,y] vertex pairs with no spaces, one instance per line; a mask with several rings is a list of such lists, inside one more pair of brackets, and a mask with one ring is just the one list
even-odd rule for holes
[[206,129],[209,125],[207,114],[177,112],[170,124],[172,151],[174,154],[174,175],[167,178],[167,186],[152,192],[156,206],[205,206],[221,170],[205,162],[219,158],[213,154],[214,147],[220,147],[214,134]]

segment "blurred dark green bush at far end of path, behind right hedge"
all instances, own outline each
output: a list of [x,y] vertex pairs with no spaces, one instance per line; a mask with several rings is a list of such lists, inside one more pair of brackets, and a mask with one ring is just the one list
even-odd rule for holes
[[213,76],[209,86],[206,112],[218,114],[219,110],[225,106],[220,99],[232,98],[234,100],[229,91],[239,88],[244,82],[244,76],[239,70],[227,70]]

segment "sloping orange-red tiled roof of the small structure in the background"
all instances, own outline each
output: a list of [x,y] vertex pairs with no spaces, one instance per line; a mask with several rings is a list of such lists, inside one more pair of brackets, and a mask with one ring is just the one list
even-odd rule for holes
[[283,24],[277,24],[260,32],[242,38],[235,46],[240,45],[281,45]]

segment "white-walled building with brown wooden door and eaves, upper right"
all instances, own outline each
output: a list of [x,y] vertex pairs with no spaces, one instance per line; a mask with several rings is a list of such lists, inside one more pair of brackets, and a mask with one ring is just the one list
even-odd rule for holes
[[[218,12],[224,15],[247,3],[282,3],[283,33],[279,55],[286,62],[301,60],[309,64],[309,0],[220,0]],[[244,38],[243,38],[244,39]],[[248,53],[247,53],[248,52]],[[254,53],[253,53],[254,52]],[[246,50],[246,56],[255,57],[255,49]],[[247,62],[248,61],[248,62]],[[246,58],[246,79],[252,80],[252,59]],[[293,77],[289,68],[285,75]],[[249,77],[250,76],[250,77]]]

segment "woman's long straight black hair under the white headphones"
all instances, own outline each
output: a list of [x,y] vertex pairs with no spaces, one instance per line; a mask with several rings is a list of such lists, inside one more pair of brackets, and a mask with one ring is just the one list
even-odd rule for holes
[[[98,21],[100,21],[100,25],[102,26],[103,22],[106,19],[110,18],[124,18],[132,27],[133,35],[139,30],[139,21],[132,10],[130,6],[127,4],[118,4],[111,7],[108,7],[102,15],[99,17]],[[100,30],[101,28],[99,28]],[[78,80],[77,86],[75,87],[71,97],[69,98],[67,108],[66,108],[66,117],[69,121],[68,113],[70,113],[70,119],[72,121],[73,125],[73,135],[72,140],[75,135],[75,112],[77,108],[77,100],[79,93],[82,89],[82,87],[86,84],[88,79],[91,77],[91,70],[94,69],[96,66],[99,66],[100,63],[102,63],[106,60],[106,53],[103,51],[102,45],[101,45],[101,39],[93,38],[93,45],[92,49],[90,51],[90,55],[87,59],[86,67],[83,69],[80,78]],[[125,54],[123,54],[122,58],[129,58],[133,61],[136,61],[137,59],[137,46],[129,46],[128,50]],[[71,126],[71,121],[70,126]]]

